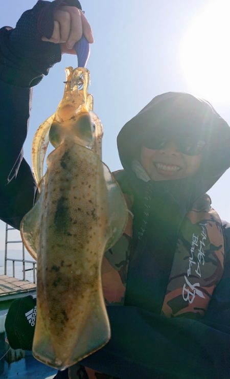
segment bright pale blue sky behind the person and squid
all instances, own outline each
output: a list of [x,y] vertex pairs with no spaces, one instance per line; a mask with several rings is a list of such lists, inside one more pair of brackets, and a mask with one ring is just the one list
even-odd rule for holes
[[[1,4],[0,24],[14,27],[34,0]],[[121,168],[116,137],[119,130],[154,96],[189,92],[209,100],[230,123],[229,0],[82,0],[95,36],[88,61],[94,110],[104,126],[103,160],[110,170]],[[37,127],[56,110],[63,95],[65,55],[34,88],[25,157],[31,162]],[[213,207],[230,221],[230,171],[210,190]],[[0,222],[0,250],[5,226]]]

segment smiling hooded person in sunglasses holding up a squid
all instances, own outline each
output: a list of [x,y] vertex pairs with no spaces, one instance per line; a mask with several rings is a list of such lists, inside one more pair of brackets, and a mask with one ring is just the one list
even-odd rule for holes
[[[39,1],[15,29],[0,31],[0,217],[15,228],[36,190],[22,151],[30,87],[82,33],[93,41],[75,0]],[[125,124],[118,150],[124,169],[114,176],[129,220],[102,263],[111,340],[57,377],[227,379],[230,225],[205,192],[230,166],[229,126],[207,101],[170,92]],[[13,348],[31,349],[25,314],[34,305],[27,297],[9,309]]]

